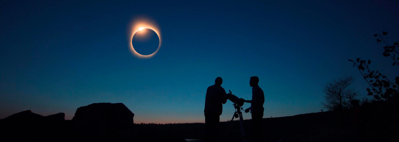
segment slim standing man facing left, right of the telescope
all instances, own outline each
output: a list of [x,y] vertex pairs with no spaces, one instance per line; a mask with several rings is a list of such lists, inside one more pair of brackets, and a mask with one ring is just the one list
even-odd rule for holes
[[263,90],[258,86],[259,78],[252,76],[249,79],[249,86],[252,87],[252,100],[244,102],[251,103],[251,107],[245,109],[245,113],[251,110],[252,116],[252,135],[254,142],[262,142],[262,117],[263,117],[263,103],[265,102],[265,95]]

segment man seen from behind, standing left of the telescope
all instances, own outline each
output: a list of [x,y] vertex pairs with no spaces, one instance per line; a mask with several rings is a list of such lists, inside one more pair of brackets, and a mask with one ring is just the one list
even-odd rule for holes
[[222,114],[222,104],[227,101],[225,89],[220,85],[223,80],[221,77],[215,79],[215,84],[209,86],[205,96],[205,142],[214,142],[217,137],[219,116]]

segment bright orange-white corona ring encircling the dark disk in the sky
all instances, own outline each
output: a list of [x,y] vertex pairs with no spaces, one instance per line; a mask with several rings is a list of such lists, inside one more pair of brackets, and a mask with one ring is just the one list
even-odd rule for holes
[[[156,35],[159,38],[158,48],[156,49],[156,51],[154,53],[149,54],[149,55],[143,55],[143,54],[138,53],[136,50],[134,50],[133,43],[132,43],[134,34],[136,34],[138,31],[142,31],[143,29],[151,29],[152,31],[154,31],[156,33]],[[158,52],[159,48],[161,47],[160,31],[154,24],[150,24],[148,22],[147,23],[146,22],[142,22],[142,23],[134,24],[132,26],[132,34],[130,35],[130,40],[129,41],[130,41],[130,51],[132,51],[134,56],[136,56],[138,58],[151,58],[152,56],[154,56]]]

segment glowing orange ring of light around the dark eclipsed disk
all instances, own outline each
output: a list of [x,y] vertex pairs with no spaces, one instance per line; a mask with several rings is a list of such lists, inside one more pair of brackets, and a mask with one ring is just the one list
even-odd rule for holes
[[[138,58],[151,58],[152,56],[154,56],[158,52],[159,48],[161,47],[161,33],[160,33],[159,27],[155,24],[155,22],[150,21],[148,19],[141,18],[141,19],[135,20],[132,23],[132,25],[130,26],[130,28],[131,28],[130,35],[129,35],[130,38],[128,38],[129,39],[128,45],[130,47],[130,51],[132,52],[132,54]],[[149,55],[142,55],[142,54],[138,53],[136,50],[134,50],[133,44],[132,44],[132,39],[133,39],[134,34],[137,31],[142,31],[143,29],[151,29],[158,35],[158,38],[159,38],[158,49],[156,49],[156,51],[154,53],[149,54]]]

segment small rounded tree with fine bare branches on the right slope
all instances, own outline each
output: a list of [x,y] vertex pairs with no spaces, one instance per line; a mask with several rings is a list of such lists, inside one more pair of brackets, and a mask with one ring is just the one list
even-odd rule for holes
[[350,101],[356,98],[356,91],[351,84],[355,81],[352,76],[339,78],[328,82],[323,86],[324,97],[326,101],[322,103],[323,107],[329,110],[348,108]]

